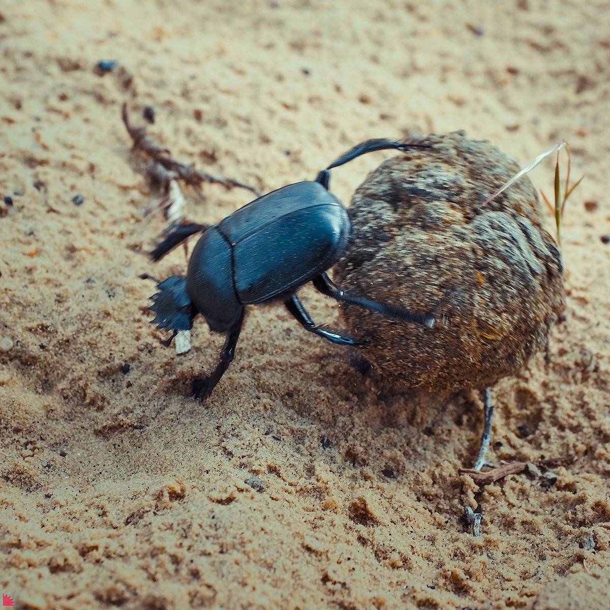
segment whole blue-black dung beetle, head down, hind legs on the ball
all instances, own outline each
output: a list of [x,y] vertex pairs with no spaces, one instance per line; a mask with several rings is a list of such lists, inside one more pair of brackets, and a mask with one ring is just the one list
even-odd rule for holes
[[150,309],[157,328],[178,331],[193,326],[196,315],[206,319],[210,331],[226,335],[220,362],[206,378],[193,380],[193,393],[202,400],[212,393],[229,368],[242,330],[246,306],[284,303],[307,330],[339,345],[356,340],[315,325],[296,290],[307,282],[343,303],[351,303],[391,318],[434,326],[431,314],[417,314],[341,290],[326,271],[345,254],[351,224],[345,206],[328,190],[330,170],[367,152],[404,151],[423,144],[367,140],[339,157],[315,181],[296,182],[255,199],[209,226],[179,224],[152,251],[160,260],[191,235],[203,232],[188,262],[186,278],[173,275],[157,285]]

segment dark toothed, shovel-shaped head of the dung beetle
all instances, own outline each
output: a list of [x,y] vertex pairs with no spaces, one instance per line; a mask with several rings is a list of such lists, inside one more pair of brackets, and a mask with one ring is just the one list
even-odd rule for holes
[[151,324],[171,331],[193,328],[196,312],[187,293],[186,279],[173,275],[157,284],[157,288],[159,292],[151,296],[152,305],[149,307],[155,314]]

